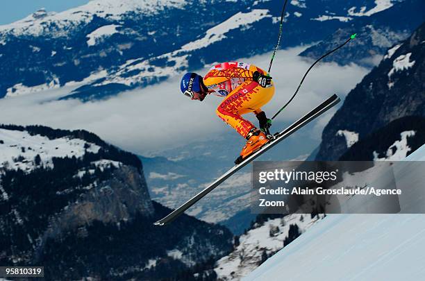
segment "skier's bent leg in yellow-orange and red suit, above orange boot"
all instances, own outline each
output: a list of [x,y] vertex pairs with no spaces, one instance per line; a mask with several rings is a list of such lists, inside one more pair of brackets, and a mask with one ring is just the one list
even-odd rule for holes
[[242,114],[261,112],[260,107],[272,99],[274,86],[263,88],[256,82],[242,83],[233,92],[226,96],[217,108],[217,115],[233,127],[242,137],[256,128],[250,121],[242,118]]

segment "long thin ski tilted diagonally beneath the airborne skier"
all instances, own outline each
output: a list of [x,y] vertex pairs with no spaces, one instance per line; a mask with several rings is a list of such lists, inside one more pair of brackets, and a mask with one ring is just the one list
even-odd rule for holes
[[319,106],[317,106],[317,108],[315,108],[315,109],[311,110],[310,112],[308,112],[307,114],[305,114],[298,121],[295,121],[294,124],[292,124],[291,126],[286,128],[285,130],[281,131],[281,133],[276,133],[272,137],[270,142],[267,142],[267,144],[265,144],[265,146],[261,147],[258,151],[249,155],[249,157],[244,159],[240,164],[237,164],[234,167],[232,167],[231,169],[229,169],[226,173],[224,173],[223,176],[221,176],[220,178],[215,180],[215,182],[213,182],[210,186],[206,187],[206,189],[203,189],[197,195],[190,198],[189,201],[187,201],[186,203],[184,203],[183,205],[178,207],[176,210],[174,210],[173,212],[171,212],[170,214],[165,216],[165,218],[160,219],[159,221],[156,221],[156,223],[153,223],[153,224],[154,225],[165,225],[167,223],[171,223],[172,221],[174,221],[174,219],[176,219],[178,216],[183,214],[183,212],[185,212],[185,210],[188,210],[192,205],[194,205],[194,203],[197,203],[197,201],[199,201],[201,198],[203,198],[208,193],[210,193],[210,191],[215,189],[215,187],[219,186],[222,182],[224,182],[224,180],[226,180],[227,178],[232,176],[234,173],[236,173],[237,171],[239,171],[240,169],[245,167],[251,161],[256,159],[256,157],[262,155],[263,153],[268,151],[270,148],[272,148],[273,146],[275,146],[279,142],[283,141],[283,139],[292,135],[295,131],[299,130],[303,126],[306,126],[306,124],[308,124],[310,121],[319,117],[321,114],[323,114],[324,112],[326,112],[327,110],[332,108],[333,105],[336,105],[339,102],[340,102],[340,98],[336,94],[333,94],[333,96],[331,96],[329,99],[327,99],[326,101],[321,103]]

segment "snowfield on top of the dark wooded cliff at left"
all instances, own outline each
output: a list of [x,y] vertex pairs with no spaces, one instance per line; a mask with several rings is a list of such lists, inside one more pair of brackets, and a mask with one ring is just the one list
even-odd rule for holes
[[[53,167],[52,157],[82,157],[85,153],[84,146],[90,147],[87,151],[97,153],[100,146],[85,142],[83,139],[49,139],[41,135],[29,135],[26,131],[0,129],[0,169],[22,169],[31,171],[35,168],[34,158],[40,155],[41,163]],[[22,152],[24,150],[24,152]],[[17,162],[17,157],[23,159]]]

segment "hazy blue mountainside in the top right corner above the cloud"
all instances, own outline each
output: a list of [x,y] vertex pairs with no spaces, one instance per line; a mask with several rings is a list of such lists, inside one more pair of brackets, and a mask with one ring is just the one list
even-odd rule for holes
[[[383,4],[385,1],[380,2]],[[347,40],[351,34],[357,33],[356,40],[352,40],[350,44],[328,56],[324,61],[334,61],[341,65],[355,62],[358,65],[373,67],[382,60],[387,49],[405,40],[425,21],[424,10],[425,3],[421,0],[406,0],[372,15],[370,15],[372,10],[365,12],[349,10],[351,15],[370,16],[353,19],[351,24],[338,28],[319,44],[303,51],[300,56],[319,58],[326,51]]]

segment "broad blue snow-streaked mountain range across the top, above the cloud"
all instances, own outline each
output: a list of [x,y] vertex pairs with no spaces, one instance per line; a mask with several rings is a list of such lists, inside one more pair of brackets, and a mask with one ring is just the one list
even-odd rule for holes
[[[290,1],[282,46],[320,41],[398,2]],[[93,0],[60,13],[39,10],[0,26],[0,96],[78,82],[81,87],[64,98],[101,99],[187,69],[271,51],[281,6],[253,0]]]

